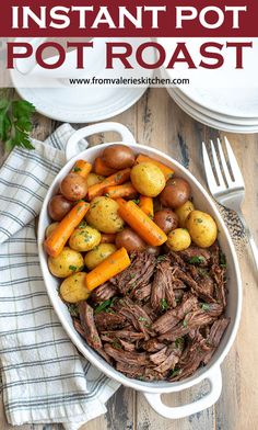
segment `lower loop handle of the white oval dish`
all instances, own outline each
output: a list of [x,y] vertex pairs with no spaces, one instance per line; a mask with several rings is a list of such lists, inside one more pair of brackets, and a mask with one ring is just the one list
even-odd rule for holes
[[192,401],[188,405],[171,407],[163,404],[161,394],[143,394],[150,406],[162,417],[171,419],[185,418],[189,415],[210,408],[219,399],[222,391],[221,369],[218,367],[214,370],[207,378],[210,383],[210,392],[199,400]]

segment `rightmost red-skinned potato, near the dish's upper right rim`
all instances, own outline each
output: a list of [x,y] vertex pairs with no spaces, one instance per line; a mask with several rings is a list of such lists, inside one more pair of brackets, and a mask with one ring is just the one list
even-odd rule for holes
[[190,185],[185,179],[173,178],[161,192],[160,202],[165,207],[177,208],[189,200],[190,194]]

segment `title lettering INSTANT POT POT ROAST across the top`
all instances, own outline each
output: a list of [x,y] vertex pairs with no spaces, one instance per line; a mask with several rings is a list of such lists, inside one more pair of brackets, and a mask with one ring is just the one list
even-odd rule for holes
[[[13,1],[11,0],[13,3]],[[51,1],[48,1],[48,3]],[[30,2],[28,2],[30,3]],[[81,3],[81,1],[80,1]],[[214,0],[212,5],[207,5],[207,2],[200,1],[197,7],[194,5],[178,5],[175,1],[174,5],[165,1],[161,4],[153,4],[150,1],[149,5],[118,5],[116,1],[112,5],[96,5],[89,2],[87,4],[78,5],[15,5],[12,4],[11,22],[12,31],[24,32],[39,31],[48,37],[48,41],[36,48],[27,41],[24,42],[8,42],[7,49],[7,66],[9,69],[15,67],[15,59],[35,57],[36,63],[45,69],[57,69],[66,61],[66,56],[69,49],[74,49],[77,53],[77,69],[85,68],[87,54],[94,49],[94,39],[89,41],[89,36],[119,36],[121,31],[127,31],[130,35],[134,32],[142,32],[149,30],[152,35],[160,35],[163,27],[167,27],[169,21],[171,27],[176,31],[177,35],[185,37],[189,34],[190,29],[197,35],[197,31],[211,32],[214,37],[221,35],[218,32],[233,32],[235,36],[246,27],[246,19],[249,19],[249,8],[247,4],[239,4],[239,0],[228,0],[227,5],[222,5]],[[107,2],[108,3],[108,2]],[[121,3],[124,3],[121,1]],[[142,3],[138,1],[138,3]],[[246,1],[248,3],[248,1]],[[74,32],[74,29],[75,32]],[[49,39],[49,32],[55,32],[55,37],[63,37],[66,31],[71,31],[72,36],[84,36],[85,42],[67,41],[66,46],[58,41]],[[112,32],[112,33],[109,33]],[[118,32],[116,34],[116,32]],[[152,33],[153,32],[153,33]],[[51,33],[52,34],[52,33]],[[122,33],[124,34],[124,33]],[[129,34],[128,34],[129,35]],[[156,69],[164,66],[168,69],[174,69],[178,66],[185,65],[188,69],[219,69],[227,60],[227,52],[234,52],[234,60],[231,57],[231,67],[233,69],[242,69],[245,66],[245,52],[253,47],[253,42],[249,41],[228,41],[224,43],[211,41],[202,41],[199,44],[198,55],[192,53],[186,42],[172,43],[171,47],[164,48],[163,44],[159,42],[142,43],[137,50],[130,43],[119,41],[106,41],[105,49],[105,67],[107,69],[115,68],[115,64],[120,61],[125,69],[132,68],[132,58],[137,64],[145,69]],[[148,61],[145,54],[148,49],[155,50],[156,58],[152,63]],[[47,58],[47,50],[54,52],[55,60],[49,61]],[[49,57],[49,56],[48,56]],[[136,61],[133,61],[136,63]]]

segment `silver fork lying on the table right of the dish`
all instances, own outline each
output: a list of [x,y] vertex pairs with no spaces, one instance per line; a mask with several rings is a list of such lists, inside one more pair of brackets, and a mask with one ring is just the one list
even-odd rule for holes
[[[211,155],[214,165],[214,171],[216,173],[216,178],[213,172],[213,168],[210,161],[210,157],[208,155],[208,150],[206,144],[202,143],[202,156],[204,162],[204,170],[207,182],[210,189],[212,196],[223,206],[228,207],[237,213],[244,228],[246,235],[249,239],[250,248],[253,251],[256,270],[258,270],[258,248],[256,246],[255,239],[249,230],[249,227],[246,224],[246,220],[243,216],[241,206],[245,197],[245,183],[241,172],[241,169],[237,165],[236,158],[230,145],[230,142],[225,137],[225,148],[227,152],[228,166],[231,167],[231,172],[226,163],[226,159],[224,156],[224,151],[222,149],[222,145],[220,139],[216,140],[216,148],[212,140],[210,140],[211,145]],[[220,162],[221,161],[221,162]],[[224,178],[223,178],[224,176]]]

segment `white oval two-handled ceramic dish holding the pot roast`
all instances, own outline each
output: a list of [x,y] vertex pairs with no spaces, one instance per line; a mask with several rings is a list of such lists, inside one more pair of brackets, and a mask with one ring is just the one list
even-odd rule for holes
[[[49,216],[47,214],[47,204],[49,199],[57,192],[58,186],[62,178],[71,170],[72,166],[78,159],[85,159],[87,161],[93,161],[105,147],[109,144],[104,144],[101,146],[94,146],[92,148],[80,151],[79,140],[85,138],[90,135],[101,132],[113,131],[121,135],[121,142],[132,148],[137,154],[142,152],[172,167],[177,174],[187,179],[189,181],[196,206],[209,212],[216,220],[219,227],[219,240],[223,251],[227,259],[227,287],[228,287],[228,304],[226,309],[226,315],[231,318],[231,324],[223,336],[223,339],[212,357],[209,364],[204,367],[199,369],[192,376],[180,382],[141,382],[138,380],[129,378],[121,373],[117,372],[104,359],[102,359],[96,352],[94,352],[86,342],[81,338],[81,336],[73,328],[73,324],[70,314],[58,295],[57,286],[59,281],[52,276],[47,267],[47,256],[43,248],[43,242],[45,238],[45,229],[50,223]],[[212,406],[220,397],[222,389],[222,376],[221,376],[221,363],[223,362],[225,355],[230,351],[241,319],[242,310],[242,282],[241,272],[235,253],[235,249],[228,231],[222,220],[220,213],[218,212],[213,201],[202,188],[202,185],[196,180],[196,178],[185,169],[179,162],[172,159],[162,151],[150,148],[146,146],[141,146],[136,144],[131,133],[121,124],[118,123],[103,123],[96,124],[89,127],[81,128],[77,131],[70,138],[67,145],[67,165],[61,169],[56,179],[54,180],[48,193],[45,197],[40,216],[38,223],[38,252],[39,260],[42,264],[42,271],[44,280],[46,283],[46,288],[52,306],[64,328],[68,336],[81,353],[96,367],[98,367],[103,373],[105,373],[110,378],[119,382],[120,384],[134,388],[139,392],[143,392],[146,400],[152,406],[152,408],[166,418],[183,418],[189,415],[201,411],[210,406]],[[199,384],[203,380],[208,380],[210,383],[210,392],[197,401],[190,403],[188,405],[178,407],[165,406],[162,401],[161,395],[164,393],[177,393],[186,388],[190,388],[194,385]]]

